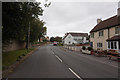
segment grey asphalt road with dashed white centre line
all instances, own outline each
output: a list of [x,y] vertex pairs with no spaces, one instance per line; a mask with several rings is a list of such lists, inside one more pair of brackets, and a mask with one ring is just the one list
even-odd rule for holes
[[117,61],[47,45],[21,63],[9,78],[118,78]]

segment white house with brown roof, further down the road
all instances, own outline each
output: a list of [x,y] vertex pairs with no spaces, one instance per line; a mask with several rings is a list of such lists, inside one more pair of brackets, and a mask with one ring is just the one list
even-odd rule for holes
[[63,37],[63,43],[66,45],[88,43],[88,33],[66,33]]

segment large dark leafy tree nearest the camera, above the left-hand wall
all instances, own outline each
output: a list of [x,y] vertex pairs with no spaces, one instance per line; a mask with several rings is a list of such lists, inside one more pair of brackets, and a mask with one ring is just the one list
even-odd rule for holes
[[[34,20],[43,14],[43,9],[39,5],[40,3],[36,2],[2,3],[3,42],[26,41],[28,28],[32,26],[29,23],[35,22]],[[41,21],[39,23],[41,24]],[[33,29],[35,29],[35,24]]]

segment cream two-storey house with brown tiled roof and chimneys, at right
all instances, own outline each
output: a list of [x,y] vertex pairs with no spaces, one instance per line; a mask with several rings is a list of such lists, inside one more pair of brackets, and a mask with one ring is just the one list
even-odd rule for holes
[[117,15],[106,20],[97,19],[97,25],[90,31],[93,49],[120,52],[120,6],[117,12]]

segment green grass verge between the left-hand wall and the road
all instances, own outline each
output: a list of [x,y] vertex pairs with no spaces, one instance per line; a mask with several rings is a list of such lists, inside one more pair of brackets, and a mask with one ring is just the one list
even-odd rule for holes
[[10,51],[10,52],[5,52],[2,54],[2,66],[3,67],[8,67],[16,62],[18,59],[18,56],[21,56],[23,54],[27,54],[30,51],[34,50],[33,48],[29,49],[27,52],[26,49],[21,49],[21,50],[15,50],[15,51]]

